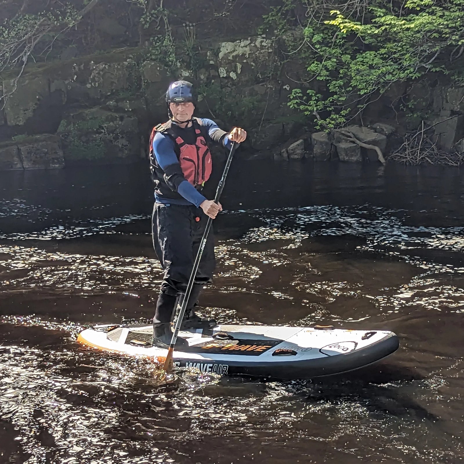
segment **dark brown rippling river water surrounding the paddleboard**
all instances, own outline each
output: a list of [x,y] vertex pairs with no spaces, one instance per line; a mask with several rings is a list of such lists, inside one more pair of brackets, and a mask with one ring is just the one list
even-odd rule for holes
[[351,374],[163,377],[78,346],[153,315],[142,167],[0,173],[0,463],[459,463],[464,176],[456,169],[238,163],[215,221],[222,321],[390,329]]

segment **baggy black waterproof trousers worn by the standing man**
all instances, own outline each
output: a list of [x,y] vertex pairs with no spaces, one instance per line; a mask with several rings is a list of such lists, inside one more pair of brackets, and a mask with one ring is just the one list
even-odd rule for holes
[[[155,323],[170,322],[179,296],[185,294],[207,219],[206,214],[194,205],[155,203],[152,216],[153,247],[164,270],[153,319]],[[211,228],[187,309],[193,308],[203,286],[212,282],[215,265]]]

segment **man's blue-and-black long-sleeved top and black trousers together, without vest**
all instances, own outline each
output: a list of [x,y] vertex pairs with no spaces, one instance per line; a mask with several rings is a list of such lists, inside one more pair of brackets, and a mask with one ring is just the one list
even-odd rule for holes
[[[226,132],[220,130],[213,121],[207,119],[198,121],[202,125],[202,135],[207,143],[213,141],[223,146],[230,143]],[[202,199],[205,199],[200,194],[201,186],[196,186],[199,194],[191,201],[186,200],[179,193],[185,191],[183,187],[187,181],[183,177],[178,161],[176,135],[181,135],[187,144],[195,144],[197,139],[193,127],[182,129],[172,124],[172,129],[168,133],[155,135],[150,150],[152,177],[156,184],[156,202],[152,216],[153,246],[164,270],[161,292],[156,304],[155,323],[170,322],[178,297],[185,294],[193,261],[207,222],[206,214],[198,207]],[[187,187],[193,188],[193,186]],[[187,311],[193,308],[203,286],[212,282],[214,267],[214,237],[211,229],[187,304]]]

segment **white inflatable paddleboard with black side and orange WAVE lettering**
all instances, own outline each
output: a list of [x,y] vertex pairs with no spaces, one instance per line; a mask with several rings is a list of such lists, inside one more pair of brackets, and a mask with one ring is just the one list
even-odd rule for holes
[[[98,325],[77,340],[106,351],[164,362],[167,349],[151,345],[152,325]],[[219,325],[180,331],[188,342],[173,362],[200,372],[273,378],[311,378],[364,367],[392,354],[398,337],[385,330]]]

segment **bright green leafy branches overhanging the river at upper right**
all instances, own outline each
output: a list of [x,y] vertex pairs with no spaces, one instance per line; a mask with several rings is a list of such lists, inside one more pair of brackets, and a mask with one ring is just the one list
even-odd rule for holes
[[[295,4],[282,0],[280,11]],[[464,51],[464,0],[407,0],[402,5],[377,0],[359,18],[334,9],[320,21],[314,16],[317,5],[312,8],[301,33],[284,34],[284,40],[288,55],[302,60],[307,71],[289,104],[316,116],[321,129],[340,127],[360,115],[393,83],[431,71],[454,72],[450,62]],[[265,20],[284,33],[288,27],[279,14],[273,10]]]

